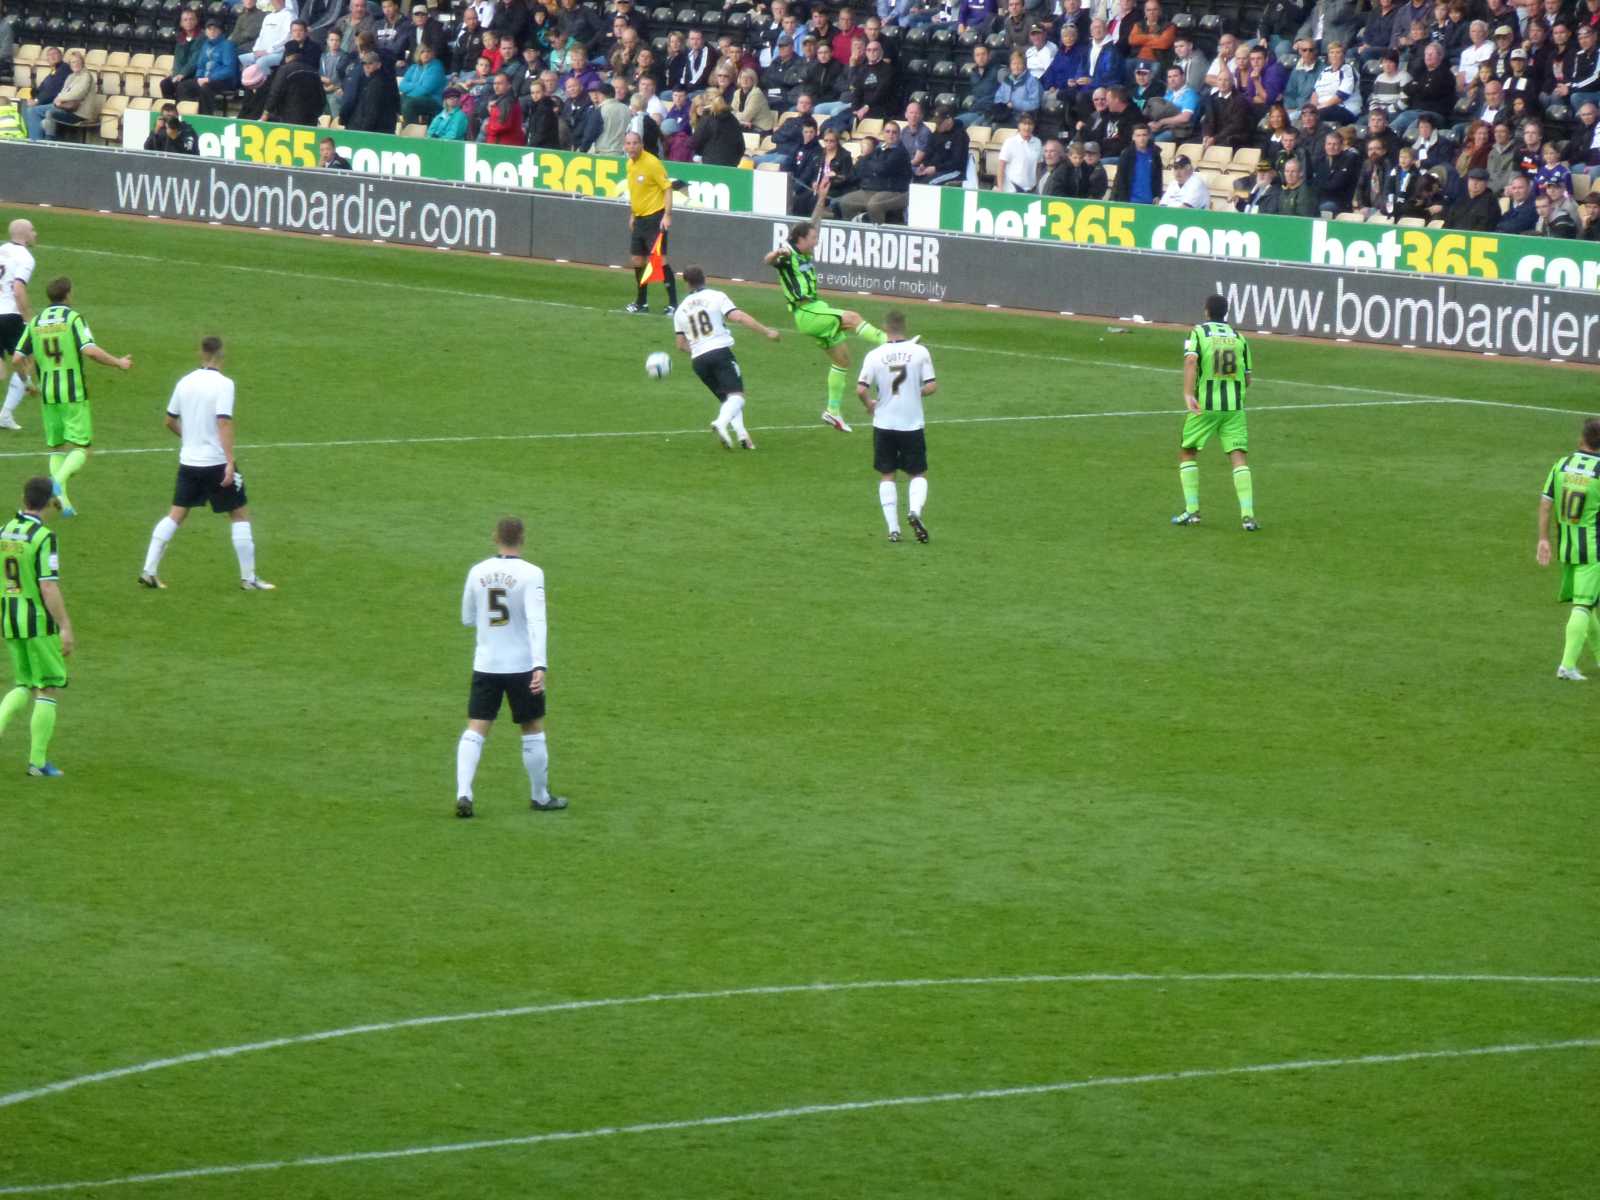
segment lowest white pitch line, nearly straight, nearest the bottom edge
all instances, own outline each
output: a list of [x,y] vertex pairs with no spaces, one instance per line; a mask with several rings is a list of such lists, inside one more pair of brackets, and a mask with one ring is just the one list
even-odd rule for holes
[[46,1195],[50,1192],[82,1192],[99,1187],[126,1187],[130,1184],[174,1182],[179,1179],[216,1179],[219,1176],[261,1174],[285,1171],[296,1166],[349,1166],[352,1163],[392,1162],[395,1158],[422,1158],[442,1154],[470,1154],[475,1150],[502,1150],[510,1147],[546,1146],[550,1142],[595,1141],[640,1133],[680,1133],[683,1130],[710,1130],[725,1125],[755,1125],[758,1122],[795,1120],[798,1117],[826,1117],[842,1112],[872,1112],[878,1109],[914,1109],[930,1104],[971,1104],[976,1101],[1018,1099],[1024,1096],[1059,1096],[1067,1091],[1091,1088],[1131,1088],[1149,1083],[1189,1083],[1195,1080],[1237,1078],[1248,1075],[1280,1075],[1331,1067],[1378,1067],[1400,1062],[1429,1062],[1440,1059],[1490,1058],[1501,1054],[1533,1054],[1557,1050],[1595,1050],[1600,1038],[1571,1038],[1568,1042],[1517,1042],[1501,1046],[1469,1046],[1462,1050],[1411,1050],[1400,1054],[1360,1054],[1355,1058],[1312,1058],[1290,1062],[1256,1062],[1243,1067],[1190,1067],[1187,1070],[1162,1070],[1147,1075],[1104,1075],[1099,1078],[1067,1080],[1062,1083],[1026,1083],[1013,1088],[979,1088],[974,1091],[939,1091],[923,1096],[886,1096],[866,1101],[837,1101],[832,1104],[800,1104],[789,1109],[762,1112],[738,1112],[722,1117],[694,1117],[690,1120],[642,1122],[638,1125],[602,1125],[592,1130],[565,1130],[555,1133],[531,1133],[523,1138],[486,1138],[472,1142],[446,1142],[442,1146],[408,1146],[398,1150],[358,1150],[355,1154],[320,1154],[307,1158],[277,1158],[254,1163],[229,1163],[224,1166],[190,1166],[178,1171],[150,1171],[125,1174],[115,1179],[83,1179],[54,1184],[19,1184],[0,1187],[0,1195]]

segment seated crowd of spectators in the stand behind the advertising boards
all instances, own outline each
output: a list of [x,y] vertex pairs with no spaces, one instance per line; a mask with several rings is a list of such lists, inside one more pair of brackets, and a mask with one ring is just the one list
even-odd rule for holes
[[[827,179],[867,221],[902,219],[915,181],[1600,240],[1600,0],[1368,2],[170,5],[149,147],[194,152],[184,110],[237,106],[594,154],[635,131],[669,162],[789,171],[797,213]],[[141,5],[163,0],[101,6]],[[0,18],[0,58],[18,40]],[[29,138],[94,125],[82,51],[30,70]]]

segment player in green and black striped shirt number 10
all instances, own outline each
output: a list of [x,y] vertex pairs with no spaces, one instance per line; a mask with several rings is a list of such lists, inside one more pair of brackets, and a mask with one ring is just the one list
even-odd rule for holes
[[1550,565],[1550,510],[1560,541],[1563,605],[1573,606],[1566,618],[1566,646],[1555,678],[1582,680],[1578,654],[1589,643],[1600,662],[1600,416],[1584,421],[1578,451],[1557,459],[1544,478],[1539,496],[1539,566]]

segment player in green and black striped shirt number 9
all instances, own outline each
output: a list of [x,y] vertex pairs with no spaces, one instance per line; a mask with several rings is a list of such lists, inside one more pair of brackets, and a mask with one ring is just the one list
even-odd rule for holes
[[72,653],[56,534],[45,525],[53,491],[48,478],[35,475],[22,485],[22,510],[0,526],[0,638],[16,683],[0,698],[0,734],[32,696],[27,773],[45,779],[61,774],[50,762],[50,738],[56,731],[56,690],[67,686]]

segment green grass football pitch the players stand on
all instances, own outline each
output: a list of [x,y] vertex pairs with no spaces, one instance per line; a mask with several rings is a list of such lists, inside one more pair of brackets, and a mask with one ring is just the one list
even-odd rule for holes
[[[1181,331],[918,306],[891,546],[773,288],[717,285],[784,330],[728,453],[626,272],[19,214],[136,365],[66,778],[0,741],[0,1195],[1594,1195],[1600,680],[1533,550],[1595,374],[1258,338],[1262,531],[1216,445],[1178,530]],[[134,584],[208,333],[272,594],[206,512]],[[571,808],[502,720],[458,821],[502,514]]]

